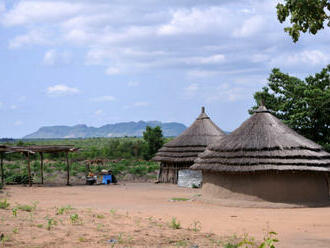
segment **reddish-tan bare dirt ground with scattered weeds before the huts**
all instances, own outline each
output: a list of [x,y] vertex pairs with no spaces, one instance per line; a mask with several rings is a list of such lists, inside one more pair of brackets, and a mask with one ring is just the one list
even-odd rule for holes
[[[200,201],[200,195],[200,189],[151,183],[7,186],[0,193],[0,199],[7,198],[11,204],[7,210],[0,209],[0,234],[5,234],[7,239],[2,245],[223,247],[233,235],[247,233],[262,240],[266,232],[275,231],[280,240],[276,247],[330,247],[330,207],[226,207]],[[173,201],[172,198],[190,200]],[[38,202],[34,211],[18,210],[17,216],[13,216],[13,207],[32,205],[32,202]],[[56,214],[67,205],[74,209]],[[72,220],[75,214],[78,218]],[[173,217],[181,223],[181,229],[170,227],[168,223]],[[53,222],[50,228],[49,220]],[[108,242],[111,239],[114,243]]]

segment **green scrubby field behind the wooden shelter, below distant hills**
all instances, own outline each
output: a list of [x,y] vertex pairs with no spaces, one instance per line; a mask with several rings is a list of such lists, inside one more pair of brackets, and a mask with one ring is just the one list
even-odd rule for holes
[[[167,140],[168,141],[168,140]],[[143,159],[146,144],[142,138],[89,138],[54,140],[19,140],[9,145],[74,145],[78,152],[70,153],[70,174],[81,178],[87,173],[88,160],[104,160],[102,164],[92,164],[90,169],[98,174],[102,169],[111,169],[119,180],[155,180],[159,164]],[[65,154],[44,154],[44,178],[46,182],[57,183],[58,177],[65,177]],[[5,181],[13,183],[27,178],[27,161],[22,154],[5,155]],[[40,182],[40,155],[31,155],[33,181]],[[25,177],[25,179],[24,179]],[[82,181],[80,181],[82,182]]]

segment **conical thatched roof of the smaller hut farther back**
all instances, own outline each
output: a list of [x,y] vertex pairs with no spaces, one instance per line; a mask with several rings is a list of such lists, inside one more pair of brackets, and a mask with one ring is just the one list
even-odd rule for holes
[[153,158],[163,162],[193,162],[207,145],[219,142],[225,133],[202,112],[180,136],[166,143]]

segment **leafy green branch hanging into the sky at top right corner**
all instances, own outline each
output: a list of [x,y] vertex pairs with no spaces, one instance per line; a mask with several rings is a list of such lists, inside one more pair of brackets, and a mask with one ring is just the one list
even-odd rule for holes
[[289,16],[291,27],[284,28],[294,42],[297,42],[300,32],[307,31],[316,34],[324,28],[324,23],[330,27],[329,0],[284,0],[276,6],[277,18],[283,23]]

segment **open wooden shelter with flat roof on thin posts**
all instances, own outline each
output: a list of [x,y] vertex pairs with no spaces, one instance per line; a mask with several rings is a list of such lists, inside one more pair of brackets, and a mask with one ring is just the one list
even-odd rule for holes
[[69,153],[75,152],[79,148],[75,148],[72,145],[42,145],[42,146],[7,146],[0,145],[0,170],[1,170],[1,183],[4,184],[4,168],[3,168],[3,159],[5,153],[19,152],[23,153],[28,161],[28,177],[29,177],[29,186],[32,186],[31,181],[31,166],[30,166],[30,155],[39,153],[40,154],[40,175],[41,175],[41,184],[44,183],[44,162],[43,155],[44,153],[65,153],[66,164],[67,164],[67,185],[70,185],[70,162],[69,162]]

